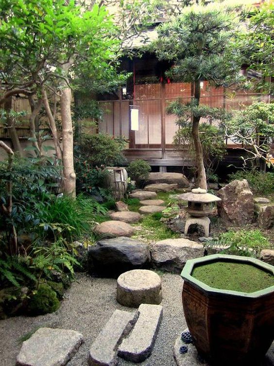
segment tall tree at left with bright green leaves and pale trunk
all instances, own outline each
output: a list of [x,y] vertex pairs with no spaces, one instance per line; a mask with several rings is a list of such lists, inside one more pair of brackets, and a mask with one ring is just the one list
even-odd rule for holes
[[[70,88],[117,75],[111,63],[117,28],[103,6],[86,10],[72,0],[0,0],[0,9],[0,105],[17,93],[42,98],[57,157],[63,158],[64,190],[75,194]],[[52,93],[61,101],[63,152]]]

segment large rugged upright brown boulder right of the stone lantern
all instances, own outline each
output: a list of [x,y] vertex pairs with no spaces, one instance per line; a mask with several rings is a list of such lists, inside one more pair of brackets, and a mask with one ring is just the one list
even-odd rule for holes
[[254,197],[246,179],[235,180],[218,191],[219,216],[226,227],[244,226],[254,219]]

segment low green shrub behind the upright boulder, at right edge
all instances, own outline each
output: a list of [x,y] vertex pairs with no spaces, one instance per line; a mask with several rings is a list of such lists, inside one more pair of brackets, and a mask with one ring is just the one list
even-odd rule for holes
[[274,193],[274,173],[262,173],[258,170],[238,170],[236,173],[229,175],[229,181],[235,179],[246,179],[251,190],[256,195],[269,195]]

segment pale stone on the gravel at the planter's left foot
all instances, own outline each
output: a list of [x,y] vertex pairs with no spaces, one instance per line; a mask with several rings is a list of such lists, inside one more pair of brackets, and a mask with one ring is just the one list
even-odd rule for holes
[[[188,331],[188,329],[185,329],[184,332],[185,331]],[[180,347],[182,346],[188,347],[187,353],[184,354],[180,353]],[[186,345],[181,340],[181,334],[175,341],[173,348],[173,356],[177,366],[210,366],[208,363],[206,363],[203,359],[199,357],[197,349],[192,343]]]

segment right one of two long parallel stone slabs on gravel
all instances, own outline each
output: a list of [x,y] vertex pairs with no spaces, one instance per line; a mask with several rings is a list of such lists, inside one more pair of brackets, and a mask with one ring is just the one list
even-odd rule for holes
[[161,305],[141,304],[138,312],[134,329],[118,348],[118,356],[131,362],[142,362],[150,356],[162,320],[163,308]]

